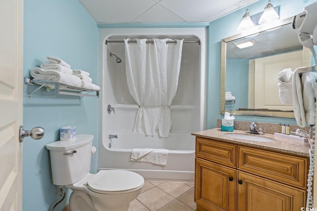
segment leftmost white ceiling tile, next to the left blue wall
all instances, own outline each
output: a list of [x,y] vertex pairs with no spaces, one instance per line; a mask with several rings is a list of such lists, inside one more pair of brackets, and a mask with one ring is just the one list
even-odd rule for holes
[[80,0],[97,23],[132,22],[156,4],[154,0]]

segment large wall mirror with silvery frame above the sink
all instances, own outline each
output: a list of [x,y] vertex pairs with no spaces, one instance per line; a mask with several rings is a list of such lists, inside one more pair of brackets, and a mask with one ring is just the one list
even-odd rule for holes
[[293,105],[280,101],[278,73],[311,66],[311,53],[299,43],[292,19],[221,41],[221,114],[294,118]]

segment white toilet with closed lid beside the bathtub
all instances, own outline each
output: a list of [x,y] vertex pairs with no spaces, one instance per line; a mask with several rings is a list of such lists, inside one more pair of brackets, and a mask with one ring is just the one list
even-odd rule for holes
[[128,170],[100,170],[91,174],[93,135],[76,135],[73,141],[47,144],[50,150],[53,184],[69,187],[70,211],[130,211],[144,178]]

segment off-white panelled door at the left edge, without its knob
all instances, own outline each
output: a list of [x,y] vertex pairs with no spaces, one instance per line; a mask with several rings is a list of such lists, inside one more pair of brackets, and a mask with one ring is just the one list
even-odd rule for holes
[[23,0],[0,0],[0,211],[22,211]]

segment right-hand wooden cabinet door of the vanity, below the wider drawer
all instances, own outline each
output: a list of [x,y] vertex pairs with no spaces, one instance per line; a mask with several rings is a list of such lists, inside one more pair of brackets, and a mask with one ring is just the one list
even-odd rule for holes
[[300,211],[306,191],[238,171],[238,211]]

